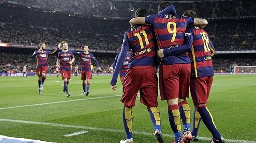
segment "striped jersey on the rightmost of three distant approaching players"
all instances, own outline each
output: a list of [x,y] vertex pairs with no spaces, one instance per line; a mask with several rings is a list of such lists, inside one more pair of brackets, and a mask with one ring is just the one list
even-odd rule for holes
[[97,67],[100,67],[99,64],[98,64],[98,61],[96,60],[96,58],[93,56],[92,53],[85,54],[85,52],[75,52],[75,51],[73,51],[73,53],[79,55],[79,57],[80,57],[80,66],[81,66],[82,71],[91,70],[92,60],[96,64]]

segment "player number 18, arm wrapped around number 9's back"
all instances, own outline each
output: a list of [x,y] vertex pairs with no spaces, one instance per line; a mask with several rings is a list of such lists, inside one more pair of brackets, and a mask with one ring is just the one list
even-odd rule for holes
[[[196,13],[192,10],[187,10],[183,15],[196,18]],[[207,32],[199,29],[199,27],[189,26],[182,46],[162,51],[163,53],[160,53],[160,57],[179,54],[184,51],[189,52],[189,57],[191,58],[190,92],[195,105],[192,130],[193,141],[199,140],[198,130],[202,119],[213,136],[211,143],[224,143],[225,140],[217,130],[211,112],[206,106],[214,76],[211,57],[215,54],[214,46],[208,38]]]

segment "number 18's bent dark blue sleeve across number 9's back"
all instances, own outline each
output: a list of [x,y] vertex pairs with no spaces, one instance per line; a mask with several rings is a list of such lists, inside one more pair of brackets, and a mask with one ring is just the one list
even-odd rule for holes
[[193,27],[188,27],[185,32],[184,43],[180,46],[171,47],[163,50],[165,57],[175,54],[181,54],[191,49],[194,40]]

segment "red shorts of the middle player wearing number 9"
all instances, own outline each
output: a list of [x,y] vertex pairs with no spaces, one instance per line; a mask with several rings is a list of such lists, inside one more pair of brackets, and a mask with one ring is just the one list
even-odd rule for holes
[[189,97],[190,64],[160,65],[161,100]]

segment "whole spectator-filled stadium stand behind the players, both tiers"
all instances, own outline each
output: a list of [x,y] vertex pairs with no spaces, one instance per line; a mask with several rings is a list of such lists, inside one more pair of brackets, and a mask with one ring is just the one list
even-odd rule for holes
[[[0,0],[0,43],[35,46],[45,41],[47,46],[56,47],[65,40],[71,48],[81,49],[89,45],[92,50],[117,52],[134,11],[144,7],[153,14],[157,12],[158,3],[156,0]],[[205,29],[216,51],[256,50],[254,2],[184,0],[172,1],[172,4],[178,14],[193,9],[198,17],[209,21]],[[4,62],[0,65],[0,72],[12,69],[18,72],[24,61],[28,62],[28,69],[35,69],[35,60],[26,60],[33,52],[7,53],[1,53],[0,60]],[[107,70],[114,60],[114,54],[112,58],[98,57],[103,70]],[[236,57],[240,55],[236,54]],[[255,59],[229,58],[239,66],[256,64]],[[10,59],[14,59],[12,63],[9,63]],[[56,55],[49,56],[49,63],[55,61]],[[228,58],[213,58],[213,62],[215,72],[229,72],[229,65],[232,65]],[[54,70],[54,64],[49,64],[49,72]]]

